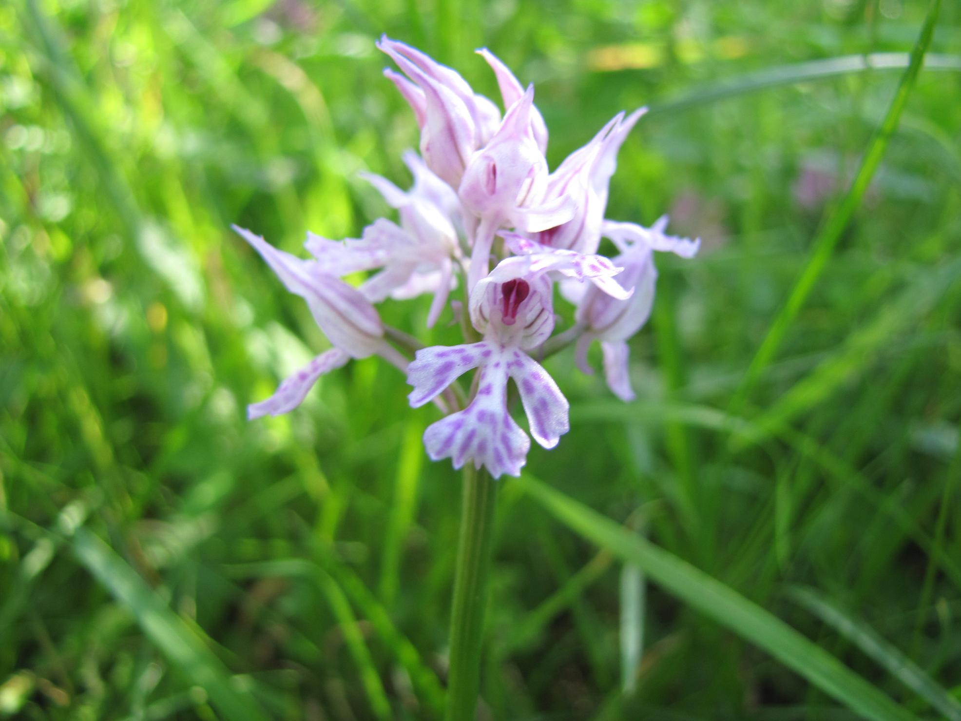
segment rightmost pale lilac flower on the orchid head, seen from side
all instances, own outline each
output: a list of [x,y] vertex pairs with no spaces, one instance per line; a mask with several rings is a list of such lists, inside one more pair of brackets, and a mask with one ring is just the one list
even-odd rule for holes
[[578,303],[577,321],[586,328],[578,341],[578,365],[584,373],[593,373],[587,364],[587,349],[594,340],[601,341],[604,354],[604,378],[611,391],[624,401],[634,398],[628,375],[629,349],[627,340],[637,333],[651,316],[654,285],[657,270],[653,251],[670,251],[681,258],[693,258],[701,245],[700,240],[667,236],[667,217],[661,217],[652,228],[635,223],[604,221],[603,235],[617,245],[621,254],[613,259],[624,268],[618,281],[631,289],[627,298],[616,298],[602,292],[597,286],[580,286],[568,293]]

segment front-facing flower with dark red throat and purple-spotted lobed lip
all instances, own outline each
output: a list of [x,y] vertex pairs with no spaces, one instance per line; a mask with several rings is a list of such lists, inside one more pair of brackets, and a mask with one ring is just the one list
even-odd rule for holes
[[[500,266],[498,266],[500,268]],[[495,269],[471,293],[470,315],[483,335],[479,343],[432,346],[417,351],[407,368],[407,396],[423,406],[448,385],[480,368],[477,394],[464,410],[432,424],[424,445],[433,460],[450,458],[455,468],[473,462],[495,478],[517,476],[527,460],[530,438],[507,410],[507,380],[513,379],[530,423],[530,435],[554,448],[567,433],[568,403],[554,379],[527,351],[554,330],[551,282],[543,273],[517,275],[509,266]]]

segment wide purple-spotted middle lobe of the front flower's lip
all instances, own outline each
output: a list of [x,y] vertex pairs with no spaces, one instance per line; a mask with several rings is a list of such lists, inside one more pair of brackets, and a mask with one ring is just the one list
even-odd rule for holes
[[507,412],[506,370],[495,365],[480,371],[478,394],[466,409],[440,419],[424,432],[424,447],[432,460],[449,458],[455,468],[472,460],[476,468],[485,466],[494,478],[520,475],[530,438]]

